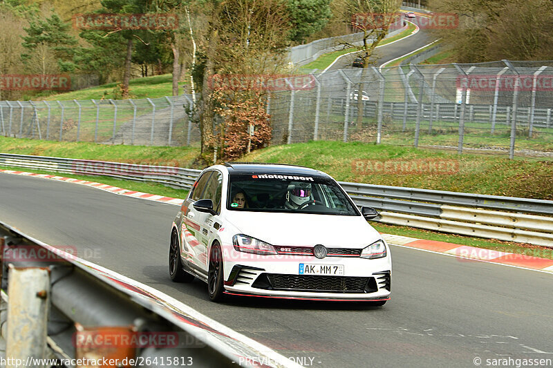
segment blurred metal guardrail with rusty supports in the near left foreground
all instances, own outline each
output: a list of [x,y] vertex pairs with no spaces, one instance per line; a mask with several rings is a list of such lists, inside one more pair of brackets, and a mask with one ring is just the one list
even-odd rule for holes
[[270,367],[299,367],[147,285],[3,222],[0,249],[1,338],[6,339],[6,358],[14,359],[12,367],[54,365],[26,364],[29,358],[57,359],[57,367],[88,366],[75,363],[78,358],[134,359],[142,362],[137,367],[253,367],[260,359]]

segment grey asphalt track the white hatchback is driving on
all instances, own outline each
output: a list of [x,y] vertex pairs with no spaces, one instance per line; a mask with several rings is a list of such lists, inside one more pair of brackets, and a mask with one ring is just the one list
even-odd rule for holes
[[475,367],[474,359],[553,360],[553,275],[392,247],[392,299],[355,303],[232,298],[169,280],[178,207],[0,173],[0,220],[163,291],[313,367]]

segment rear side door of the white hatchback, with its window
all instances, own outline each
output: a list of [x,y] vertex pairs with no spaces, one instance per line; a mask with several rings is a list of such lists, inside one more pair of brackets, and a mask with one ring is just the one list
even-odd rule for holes
[[194,209],[194,202],[203,198],[203,193],[209,178],[212,177],[214,171],[207,171],[203,173],[190,191],[187,200],[182,204],[182,251],[181,254],[188,266],[194,268],[196,271],[203,271],[203,267],[198,264],[198,260],[203,258],[202,253],[205,253],[205,248],[202,246],[202,223],[204,221],[203,215],[200,211]]

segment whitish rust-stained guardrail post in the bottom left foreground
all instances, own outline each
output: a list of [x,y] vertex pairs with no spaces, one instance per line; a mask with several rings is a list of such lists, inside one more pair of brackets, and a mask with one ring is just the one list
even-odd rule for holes
[[[21,367],[15,360],[46,357],[50,271],[44,268],[15,268],[10,264],[8,276],[8,336],[6,368]],[[11,361],[11,362],[10,362]],[[44,367],[38,362],[30,367]]]

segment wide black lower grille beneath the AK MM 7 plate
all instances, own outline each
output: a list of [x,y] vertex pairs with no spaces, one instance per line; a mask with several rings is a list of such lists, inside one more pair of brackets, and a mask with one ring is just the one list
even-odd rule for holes
[[279,273],[262,273],[259,278],[269,280],[270,286],[263,289],[316,291],[321,293],[365,293],[367,282],[370,279],[346,276],[284,275]]

